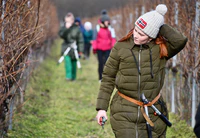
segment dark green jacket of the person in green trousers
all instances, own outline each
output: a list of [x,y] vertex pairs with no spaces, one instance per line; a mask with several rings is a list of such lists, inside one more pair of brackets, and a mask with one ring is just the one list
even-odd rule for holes
[[[61,48],[61,55],[65,52],[65,50],[71,46],[71,44],[76,41],[76,44],[78,46],[77,50],[78,52],[83,52],[84,48],[84,39],[83,34],[81,33],[79,27],[75,24],[73,24],[70,28],[61,27],[59,30],[59,36],[64,39],[64,42],[62,43]],[[74,50],[71,49],[68,53],[68,56],[70,56],[72,59],[75,58]]]

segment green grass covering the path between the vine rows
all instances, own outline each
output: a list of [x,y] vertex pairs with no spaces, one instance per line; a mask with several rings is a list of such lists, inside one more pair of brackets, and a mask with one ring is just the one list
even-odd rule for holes
[[[52,55],[34,71],[25,92],[26,102],[22,113],[15,113],[13,129],[8,136],[114,138],[109,120],[104,130],[95,120],[99,89],[96,57],[91,55],[90,60],[81,60],[82,70],[78,70],[77,80],[67,82],[63,63],[56,65],[61,41],[55,41],[54,45]],[[174,115],[171,117],[175,123],[168,129],[167,137],[194,137],[192,129],[184,121]]]

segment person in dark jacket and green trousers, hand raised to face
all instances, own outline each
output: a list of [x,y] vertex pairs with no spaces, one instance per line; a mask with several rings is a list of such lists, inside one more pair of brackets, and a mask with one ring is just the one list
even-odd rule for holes
[[66,72],[65,78],[68,81],[73,81],[76,79],[77,60],[72,43],[76,42],[77,51],[81,54],[84,48],[84,40],[79,27],[74,23],[74,15],[71,12],[67,13],[65,16],[64,26],[60,28],[59,36],[64,40],[61,48],[61,55],[63,55],[68,47],[71,47],[69,53],[64,57],[64,62]]

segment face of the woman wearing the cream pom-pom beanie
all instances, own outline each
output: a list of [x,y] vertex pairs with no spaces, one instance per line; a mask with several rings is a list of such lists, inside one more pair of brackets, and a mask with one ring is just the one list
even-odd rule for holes
[[136,45],[146,44],[146,43],[148,43],[152,40],[148,35],[143,33],[137,27],[135,27],[134,30],[133,30],[133,37],[134,37],[134,43]]

